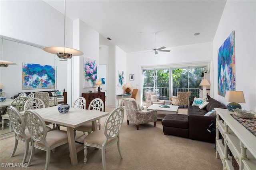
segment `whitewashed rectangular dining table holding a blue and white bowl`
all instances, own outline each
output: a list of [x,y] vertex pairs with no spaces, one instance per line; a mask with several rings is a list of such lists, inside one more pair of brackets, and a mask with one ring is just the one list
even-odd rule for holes
[[[45,107],[35,109],[44,121],[64,125],[67,127],[68,147],[70,151],[70,160],[72,165],[77,165],[77,151],[75,145],[74,128],[85,123],[92,123],[92,130],[97,130],[96,120],[107,116],[109,113],[105,111],[93,111],[88,109],[77,109],[70,107],[68,113],[60,113],[58,106]],[[20,112],[24,115],[24,111]]]

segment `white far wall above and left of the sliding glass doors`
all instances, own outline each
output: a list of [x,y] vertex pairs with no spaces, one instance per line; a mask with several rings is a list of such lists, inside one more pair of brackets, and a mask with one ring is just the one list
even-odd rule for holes
[[[127,82],[132,84],[134,88],[139,89],[137,94],[138,99],[136,99],[138,102],[142,103],[142,66],[152,66],[154,68],[154,66],[158,65],[166,66],[170,64],[210,62],[213,59],[211,42],[170,47],[168,49],[171,50],[169,53],[158,52],[156,56],[154,56],[154,52],[148,51],[127,54]],[[134,74],[134,80],[129,80],[129,74]]]

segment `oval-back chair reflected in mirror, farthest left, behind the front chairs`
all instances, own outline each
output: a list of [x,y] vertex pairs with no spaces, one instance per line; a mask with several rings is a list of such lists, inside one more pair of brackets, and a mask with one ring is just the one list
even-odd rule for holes
[[[27,97],[18,97],[15,98],[10,106],[14,106],[18,111],[24,111],[24,105],[26,103],[26,101],[28,100]],[[2,115],[2,129],[4,129],[4,120],[10,120],[8,113],[5,113],[4,115]],[[10,128],[10,132],[12,131],[12,124],[9,125]]]

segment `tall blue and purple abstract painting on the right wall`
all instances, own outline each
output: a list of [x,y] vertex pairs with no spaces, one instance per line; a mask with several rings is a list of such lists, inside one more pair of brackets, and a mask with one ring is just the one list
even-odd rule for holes
[[235,31],[228,36],[218,50],[218,95],[236,90]]

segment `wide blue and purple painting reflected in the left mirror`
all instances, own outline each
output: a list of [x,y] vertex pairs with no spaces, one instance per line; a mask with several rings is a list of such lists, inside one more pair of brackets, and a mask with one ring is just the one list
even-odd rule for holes
[[22,90],[54,88],[54,66],[22,63]]

